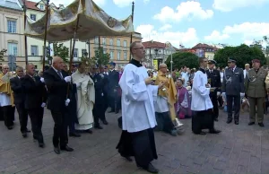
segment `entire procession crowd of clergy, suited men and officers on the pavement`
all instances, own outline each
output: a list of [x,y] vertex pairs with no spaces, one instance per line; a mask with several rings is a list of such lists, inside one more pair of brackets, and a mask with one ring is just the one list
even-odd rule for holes
[[[16,73],[2,66],[0,74],[0,120],[13,129],[15,109],[19,115],[22,136],[28,137],[28,116],[33,139],[45,146],[42,135],[44,109],[50,110],[54,120],[54,152],[73,152],[68,146],[69,136],[92,134],[92,128],[108,125],[106,111],[118,113],[122,128],[117,150],[127,161],[134,156],[138,167],[152,173],[157,170],[152,160],[158,155],[154,131],[180,135],[180,119],[192,118],[196,135],[219,134],[214,127],[219,109],[228,113],[227,124],[239,125],[240,109],[249,108],[249,126],[264,125],[269,75],[258,59],[252,69],[236,65],[232,57],[225,68],[217,62],[200,57],[199,67],[183,66],[172,73],[166,64],[159,70],[148,71],[141,62],[145,56],[143,44],[130,46],[132,60],[124,68],[109,65],[72,65],[68,71],[61,57],[53,57],[45,71],[35,71],[35,65],[17,66]],[[267,104],[266,104],[267,103]],[[101,122],[101,124],[100,124]]]

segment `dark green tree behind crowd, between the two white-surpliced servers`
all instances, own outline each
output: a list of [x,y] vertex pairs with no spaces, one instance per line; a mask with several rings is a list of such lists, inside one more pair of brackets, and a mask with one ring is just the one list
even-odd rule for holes
[[[169,69],[171,67],[170,64],[171,56],[167,58],[165,64],[168,65]],[[183,65],[186,65],[189,68],[197,68],[198,64],[198,57],[189,52],[177,52],[173,54],[173,69],[180,69]]]

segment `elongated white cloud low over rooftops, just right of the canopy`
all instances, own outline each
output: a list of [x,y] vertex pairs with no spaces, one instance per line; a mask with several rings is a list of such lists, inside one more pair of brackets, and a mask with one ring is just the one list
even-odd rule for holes
[[186,31],[163,31],[159,32],[154,29],[153,25],[139,25],[136,28],[137,32],[140,32],[143,37],[143,41],[154,40],[160,42],[169,41],[174,47],[178,48],[179,43],[186,47],[193,47],[197,42],[198,38],[196,35],[196,30],[194,28],[189,28]]

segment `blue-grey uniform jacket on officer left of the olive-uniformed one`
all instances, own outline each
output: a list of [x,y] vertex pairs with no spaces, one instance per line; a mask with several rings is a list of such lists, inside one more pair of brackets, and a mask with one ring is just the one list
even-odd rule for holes
[[226,95],[240,95],[245,92],[243,69],[236,67],[234,71],[225,69],[223,74],[222,91]]

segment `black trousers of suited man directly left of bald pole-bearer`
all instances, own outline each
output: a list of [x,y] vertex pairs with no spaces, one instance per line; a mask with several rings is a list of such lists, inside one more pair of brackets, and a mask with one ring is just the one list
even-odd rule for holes
[[30,124],[33,138],[38,140],[39,143],[44,143],[42,135],[44,109],[41,107],[38,109],[27,109],[27,112],[30,117]]

